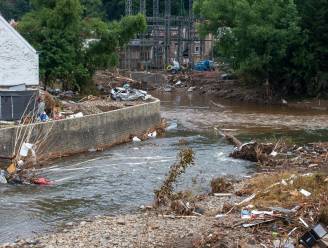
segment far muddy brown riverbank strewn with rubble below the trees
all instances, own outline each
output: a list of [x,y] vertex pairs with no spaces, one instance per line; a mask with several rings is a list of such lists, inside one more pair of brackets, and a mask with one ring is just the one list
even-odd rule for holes
[[[122,73],[140,82],[142,88],[150,91],[159,90],[177,94],[193,92],[194,94],[211,97],[214,101],[229,100],[258,105],[283,105],[298,110],[328,110],[327,99],[288,99],[274,94],[270,87],[264,84],[251,87],[221,71],[184,72],[174,75],[166,72]],[[94,79],[95,82],[104,80],[107,74],[106,71],[99,71]]]

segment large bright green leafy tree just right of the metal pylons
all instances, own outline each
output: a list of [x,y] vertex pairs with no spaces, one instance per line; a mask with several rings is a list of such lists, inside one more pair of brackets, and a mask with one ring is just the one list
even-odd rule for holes
[[216,34],[219,54],[244,79],[268,79],[279,89],[290,80],[298,66],[293,53],[301,42],[292,0],[197,0],[194,8],[208,20],[200,25],[201,32]]

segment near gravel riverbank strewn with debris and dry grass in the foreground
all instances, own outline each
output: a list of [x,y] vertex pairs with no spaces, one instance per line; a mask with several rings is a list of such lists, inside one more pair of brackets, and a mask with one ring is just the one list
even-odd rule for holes
[[[308,230],[300,219],[310,227],[319,221],[328,225],[325,210],[328,203],[327,148],[328,143],[289,148],[285,152],[292,154],[284,160],[288,168],[277,166],[282,161],[280,156],[274,159],[277,164],[272,162],[264,166],[270,168],[269,171],[259,165],[258,173],[251,178],[237,181],[224,178],[220,181],[224,187],[216,188],[217,192],[214,193],[212,184],[212,193],[188,196],[188,202],[194,206],[191,215],[179,214],[172,205],[142,206],[135,214],[69,222],[57,233],[18,240],[2,247],[296,245]],[[313,164],[314,160],[317,164]],[[184,207],[189,205],[186,199],[181,200]],[[250,213],[252,217],[248,217]]]

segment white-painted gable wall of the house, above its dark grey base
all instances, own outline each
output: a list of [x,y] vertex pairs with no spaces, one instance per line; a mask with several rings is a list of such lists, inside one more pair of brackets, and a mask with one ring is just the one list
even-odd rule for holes
[[0,15],[0,86],[39,84],[39,56]]

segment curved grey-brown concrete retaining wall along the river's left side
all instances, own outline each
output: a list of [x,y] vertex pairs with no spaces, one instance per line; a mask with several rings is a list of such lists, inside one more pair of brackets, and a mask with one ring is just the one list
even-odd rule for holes
[[[160,123],[160,101],[118,109],[106,113],[24,126],[21,133],[33,130],[30,143],[48,138],[37,150],[38,158],[49,159],[107,148],[129,141]],[[12,157],[18,127],[0,129],[0,156]]]

